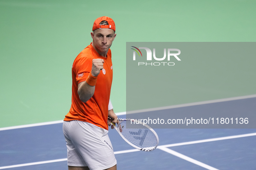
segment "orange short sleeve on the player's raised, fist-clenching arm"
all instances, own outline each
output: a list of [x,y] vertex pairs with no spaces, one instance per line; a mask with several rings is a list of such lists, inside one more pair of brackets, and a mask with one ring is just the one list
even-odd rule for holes
[[92,60],[90,60],[87,57],[81,57],[77,60],[75,63],[75,66],[73,68],[75,69],[75,79],[77,83],[84,82],[87,77],[89,76],[89,73],[91,72],[92,67]]

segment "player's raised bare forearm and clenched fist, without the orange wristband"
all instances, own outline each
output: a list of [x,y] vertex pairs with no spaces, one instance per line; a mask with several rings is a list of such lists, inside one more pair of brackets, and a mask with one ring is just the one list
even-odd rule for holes
[[[97,77],[100,74],[100,70],[103,69],[104,60],[102,59],[93,59],[91,75]],[[87,102],[94,94],[95,85],[91,86],[87,84],[86,81],[80,82],[78,84],[78,96],[82,102]]]

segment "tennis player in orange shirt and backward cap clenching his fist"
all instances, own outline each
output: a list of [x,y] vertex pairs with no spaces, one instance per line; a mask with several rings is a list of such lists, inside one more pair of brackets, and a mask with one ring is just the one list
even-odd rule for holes
[[92,31],[92,43],[78,54],[72,66],[72,104],[63,123],[68,170],[117,170],[107,135],[110,121],[117,123],[110,101],[110,47],[116,26],[113,19],[103,16],[95,20]]

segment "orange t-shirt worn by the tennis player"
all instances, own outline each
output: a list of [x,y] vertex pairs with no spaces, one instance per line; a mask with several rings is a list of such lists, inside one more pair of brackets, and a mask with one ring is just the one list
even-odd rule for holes
[[[100,71],[94,95],[86,102],[78,96],[78,84],[84,82],[91,72],[92,59],[103,59],[104,69]],[[81,120],[108,130],[107,116],[110,90],[113,78],[111,50],[102,57],[90,44],[76,57],[72,66],[72,103],[64,121]]]

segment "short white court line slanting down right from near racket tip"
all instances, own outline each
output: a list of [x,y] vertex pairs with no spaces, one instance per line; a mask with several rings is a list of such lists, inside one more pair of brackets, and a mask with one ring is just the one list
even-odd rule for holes
[[165,147],[158,147],[159,149],[161,149],[162,151],[165,151],[165,152],[168,152],[169,154],[173,154],[173,155],[175,155],[176,157],[180,157],[181,159],[184,159],[184,160],[186,160],[186,161],[189,161],[189,162],[191,162],[191,163],[193,163],[193,164],[196,164],[196,165],[199,165],[199,166],[201,166],[201,167],[204,167],[204,168],[206,168],[207,170],[218,170],[218,169],[216,169],[216,168],[214,168],[214,167],[211,167],[211,166],[209,166],[209,165],[207,165],[207,164],[204,164],[204,163],[202,163],[202,162],[199,162],[199,161],[197,161],[197,160],[194,160],[194,159],[192,159],[191,157],[187,157],[187,156],[185,156],[184,154],[180,154],[180,153],[178,153],[178,152],[176,152],[176,151],[173,151],[172,149],[169,149],[169,148],[165,148]]

